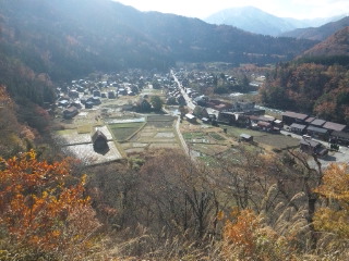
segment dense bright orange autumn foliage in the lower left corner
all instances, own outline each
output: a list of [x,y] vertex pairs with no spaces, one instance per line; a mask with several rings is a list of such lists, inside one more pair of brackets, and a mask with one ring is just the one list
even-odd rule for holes
[[[40,252],[88,247],[98,227],[84,179],[69,173],[69,161],[38,161],[29,151],[0,158],[0,223],[5,240]],[[74,249],[74,250],[73,250]]]

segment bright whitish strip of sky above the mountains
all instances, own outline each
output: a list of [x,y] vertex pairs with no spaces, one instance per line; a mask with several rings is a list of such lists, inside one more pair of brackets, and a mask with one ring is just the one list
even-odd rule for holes
[[256,7],[279,17],[315,18],[349,13],[349,0],[116,0],[141,11],[205,18],[228,8]]

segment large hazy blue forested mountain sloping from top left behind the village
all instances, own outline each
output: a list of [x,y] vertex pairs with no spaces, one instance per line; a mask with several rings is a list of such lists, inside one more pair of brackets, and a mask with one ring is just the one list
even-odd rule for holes
[[[94,71],[166,70],[177,61],[272,63],[317,44],[140,12],[109,0],[0,1],[0,55],[8,61],[3,66],[21,65],[53,80]],[[13,79],[1,72],[2,82]]]

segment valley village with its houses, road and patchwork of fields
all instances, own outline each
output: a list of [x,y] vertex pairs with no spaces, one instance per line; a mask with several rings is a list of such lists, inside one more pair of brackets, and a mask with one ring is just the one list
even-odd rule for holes
[[[324,166],[349,160],[346,125],[290,111],[268,115],[255,101],[239,97],[230,102],[209,98],[190,86],[193,80],[212,84],[212,74],[197,75],[188,78],[181,69],[167,74],[130,70],[62,85],[57,89],[57,142],[87,165],[159,148],[183,149],[209,162],[241,142],[258,151],[300,149]],[[255,79],[250,84],[257,87],[264,76]]]

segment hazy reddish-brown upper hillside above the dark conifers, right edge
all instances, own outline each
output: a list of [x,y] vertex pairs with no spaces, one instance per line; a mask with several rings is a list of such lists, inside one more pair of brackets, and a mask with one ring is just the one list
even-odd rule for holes
[[349,55],[349,26],[304,52],[304,57]]

